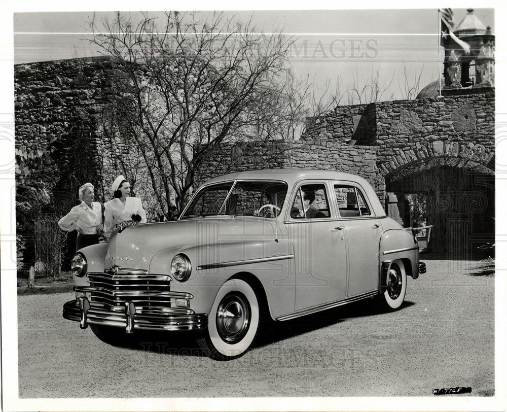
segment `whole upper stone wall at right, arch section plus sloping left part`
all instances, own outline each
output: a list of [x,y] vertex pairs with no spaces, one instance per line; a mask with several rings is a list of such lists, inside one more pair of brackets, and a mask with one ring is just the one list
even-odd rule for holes
[[354,140],[377,147],[383,176],[433,157],[459,158],[462,167],[473,163],[494,170],[494,112],[492,92],[339,106],[315,119],[301,140],[348,142],[358,137],[352,130],[354,116],[361,115],[370,131]]

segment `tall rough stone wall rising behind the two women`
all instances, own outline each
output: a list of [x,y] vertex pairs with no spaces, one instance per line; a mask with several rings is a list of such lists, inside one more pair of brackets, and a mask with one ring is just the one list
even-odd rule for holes
[[[58,170],[70,169],[60,174],[55,188],[65,199],[59,203],[62,212],[78,203],[78,188],[86,181],[95,186],[97,201],[110,200],[111,183],[123,174],[132,195],[140,196],[155,218],[159,211],[138,148],[127,147],[108,127],[114,69],[111,59],[103,57],[15,65],[16,144],[26,141],[53,156]],[[89,144],[83,145],[84,139]],[[59,156],[59,150],[73,147],[82,163],[66,165],[68,158]]]

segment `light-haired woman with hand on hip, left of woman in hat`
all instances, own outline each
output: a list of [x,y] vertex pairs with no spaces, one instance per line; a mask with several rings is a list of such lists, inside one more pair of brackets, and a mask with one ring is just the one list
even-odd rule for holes
[[70,209],[70,212],[58,221],[58,226],[63,230],[78,231],[76,250],[97,244],[99,236],[104,233],[102,208],[99,202],[93,201],[94,197],[93,185],[85,183],[79,188],[81,203]]

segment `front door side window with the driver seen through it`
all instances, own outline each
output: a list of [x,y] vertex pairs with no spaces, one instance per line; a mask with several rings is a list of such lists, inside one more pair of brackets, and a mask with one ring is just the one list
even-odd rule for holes
[[324,184],[307,184],[299,187],[291,208],[293,219],[329,218],[330,215]]

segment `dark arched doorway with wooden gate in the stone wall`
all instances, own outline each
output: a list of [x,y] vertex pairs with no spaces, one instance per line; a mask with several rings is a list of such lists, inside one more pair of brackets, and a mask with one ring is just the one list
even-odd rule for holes
[[391,217],[405,227],[433,225],[428,251],[466,259],[494,242],[495,182],[487,167],[429,158],[394,170],[385,183]]

